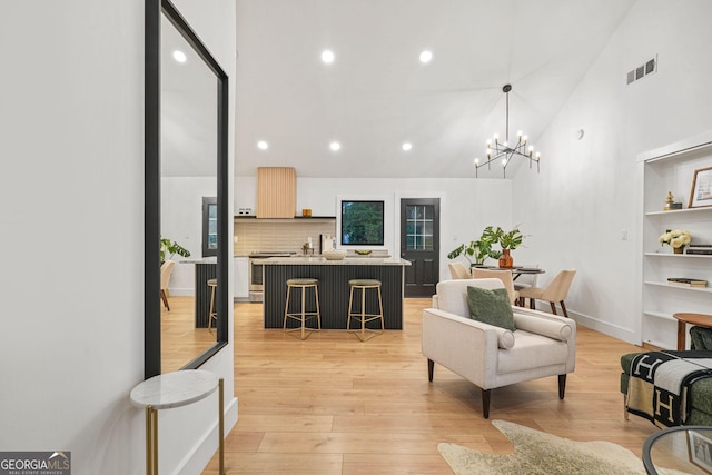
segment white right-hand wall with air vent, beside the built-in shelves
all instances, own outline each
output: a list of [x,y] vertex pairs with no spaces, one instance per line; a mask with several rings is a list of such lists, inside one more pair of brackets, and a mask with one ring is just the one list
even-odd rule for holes
[[[537,140],[541,175],[522,170],[514,180],[513,219],[534,235],[517,255],[547,269],[540,284],[575,267],[570,310],[631,343],[641,321],[635,159],[712,129],[711,16],[705,0],[639,1]],[[659,72],[626,86],[626,72],[655,55]]]

